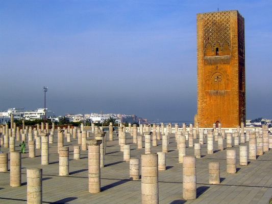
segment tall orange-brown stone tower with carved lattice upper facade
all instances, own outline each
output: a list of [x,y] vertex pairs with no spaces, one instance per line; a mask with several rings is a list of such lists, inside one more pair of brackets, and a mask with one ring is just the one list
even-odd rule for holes
[[200,127],[245,122],[244,18],[238,11],[199,13],[197,114]]

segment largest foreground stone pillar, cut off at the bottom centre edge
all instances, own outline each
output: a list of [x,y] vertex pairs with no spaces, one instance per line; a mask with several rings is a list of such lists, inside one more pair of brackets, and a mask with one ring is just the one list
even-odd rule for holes
[[142,203],[159,203],[158,154],[142,154]]

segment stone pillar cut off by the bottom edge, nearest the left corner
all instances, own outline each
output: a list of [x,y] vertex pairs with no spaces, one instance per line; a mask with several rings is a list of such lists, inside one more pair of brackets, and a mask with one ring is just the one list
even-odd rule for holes
[[42,169],[27,169],[27,203],[42,203]]

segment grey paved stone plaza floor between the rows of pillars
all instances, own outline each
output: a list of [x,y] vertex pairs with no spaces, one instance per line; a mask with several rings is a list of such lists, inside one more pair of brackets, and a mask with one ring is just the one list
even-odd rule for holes
[[[71,142],[66,142],[64,137],[64,146],[69,147],[70,175],[59,176],[57,130],[55,130],[54,143],[49,144],[49,165],[41,165],[41,149],[36,149],[36,157],[30,158],[27,143],[27,153],[22,154],[21,160],[21,187],[10,187],[10,172],[0,172],[0,203],[27,203],[26,172],[28,168],[42,168],[43,203],[141,203],[141,180],[129,179],[130,164],[123,162],[123,152],[120,152],[117,133],[114,133],[114,141],[108,141],[108,133],[106,137],[105,167],[101,168],[100,193],[88,192],[88,150],[81,151],[80,160],[73,160],[73,146],[78,145],[78,139],[71,138]],[[133,143],[130,133],[127,132],[126,137],[127,144],[131,145],[131,158],[141,159],[144,148],[137,149],[137,144]],[[94,139],[94,134],[90,133],[90,138],[87,139]],[[193,141],[199,143],[199,139]],[[20,151],[19,144],[20,141],[16,141],[16,151]],[[272,150],[258,156],[255,161],[249,160],[248,166],[239,166],[239,146],[241,145],[248,146],[249,142],[232,147],[236,149],[237,173],[231,174],[226,172],[226,139],[224,150],[217,151],[217,141],[214,141],[214,154],[207,154],[207,138],[204,138],[204,145],[201,147],[202,157],[196,158],[197,198],[184,200],[182,164],[178,163],[175,134],[170,134],[169,152],[166,153],[166,170],[159,171],[159,202],[171,204],[268,203],[272,197]],[[188,141],[186,141],[186,147],[186,155],[194,155],[194,147],[188,147]],[[1,151],[8,153],[9,149],[2,145]],[[161,151],[162,140],[159,140],[158,146],[151,147],[151,152]],[[220,162],[219,185],[209,184],[209,162]]]

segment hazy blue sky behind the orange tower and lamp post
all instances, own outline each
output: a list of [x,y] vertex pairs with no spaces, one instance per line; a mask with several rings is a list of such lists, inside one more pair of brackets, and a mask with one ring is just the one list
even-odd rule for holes
[[272,1],[2,1],[0,110],[193,121],[196,14],[245,18],[246,118],[272,119]]

